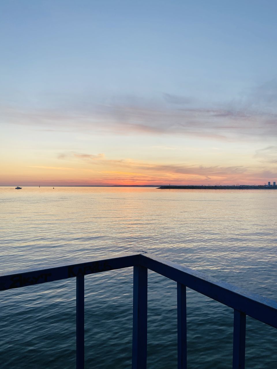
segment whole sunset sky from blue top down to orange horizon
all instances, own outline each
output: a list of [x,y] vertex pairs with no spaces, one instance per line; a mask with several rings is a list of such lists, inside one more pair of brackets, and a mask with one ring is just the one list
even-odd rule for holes
[[277,1],[1,0],[0,185],[277,179]]

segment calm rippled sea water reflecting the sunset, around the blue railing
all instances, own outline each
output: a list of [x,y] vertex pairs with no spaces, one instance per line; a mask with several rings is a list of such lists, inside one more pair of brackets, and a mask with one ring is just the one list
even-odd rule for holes
[[[0,187],[1,271],[145,250],[277,299],[277,191]],[[86,368],[131,368],[132,269],[85,277]],[[149,273],[147,368],[177,367],[176,284]],[[232,368],[233,311],[188,290],[188,367]],[[75,280],[0,293],[2,369],[75,367]],[[246,368],[277,368],[247,317]]]

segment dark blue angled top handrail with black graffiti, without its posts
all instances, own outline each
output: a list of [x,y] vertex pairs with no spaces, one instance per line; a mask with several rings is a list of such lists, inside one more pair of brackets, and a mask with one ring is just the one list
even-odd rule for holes
[[[0,273],[0,291],[141,265],[277,328],[277,302],[145,251]],[[197,282],[200,282],[197,283]],[[249,308],[249,303],[253,308]],[[252,311],[254,310],[254,311]],[[264,315],[265,318],[260,315]]]

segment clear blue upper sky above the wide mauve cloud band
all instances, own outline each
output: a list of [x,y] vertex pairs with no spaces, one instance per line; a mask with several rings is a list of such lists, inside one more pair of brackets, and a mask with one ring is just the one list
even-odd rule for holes
[[105,100],[163,91],[225,102],[276,73],[276,1],[27,0],[1,7],[4,93],[42,95],[43,105],[52,104],[47,93],[71,92]]

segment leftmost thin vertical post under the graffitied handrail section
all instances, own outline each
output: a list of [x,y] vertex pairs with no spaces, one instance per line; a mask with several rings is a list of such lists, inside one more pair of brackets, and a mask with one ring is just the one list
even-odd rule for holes
[[85,366],[85,277],[76,277],[76,369]]

